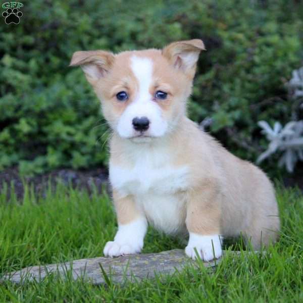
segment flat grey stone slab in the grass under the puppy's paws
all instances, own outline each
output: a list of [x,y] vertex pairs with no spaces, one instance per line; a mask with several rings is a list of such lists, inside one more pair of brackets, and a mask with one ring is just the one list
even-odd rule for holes
[[[237,253],[235,251],[235,253]],[[206,267],[214,267],[221,259],[204,262]],[[60,264],[26,267],[20,271],[5,275],[0,282],[9,280],[20,284],[29,281],[41,281],[50,274],[62,277],[67,275],[74,280],[89,280],[94,285],[124,283],[154,278],[156,275],[173,274],[186,265],[196,262],[186,257],[183,249],[173,249],[157,254],[138,254],[119,258],[80,259]]]

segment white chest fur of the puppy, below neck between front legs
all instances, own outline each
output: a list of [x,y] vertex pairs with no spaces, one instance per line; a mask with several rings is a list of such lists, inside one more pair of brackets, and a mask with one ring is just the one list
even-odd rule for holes
[[110,181],[121,196],[133,195],[138,208],[156,228],[167,233],[179,231],[185,224],[184,191],[189,170],[170,165],[167,157],[138,157],[135,165],[121,168],[110,164]]

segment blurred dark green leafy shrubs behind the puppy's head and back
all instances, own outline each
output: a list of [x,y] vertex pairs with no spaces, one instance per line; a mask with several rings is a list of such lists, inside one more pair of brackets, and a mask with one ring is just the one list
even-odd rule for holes
[[[0,22],[0,170],[106,165],[98,100],[80,68],[68,67],[78,50],[203,39],[208,51],[200,56],[190,117],[212,118],[211,133],[250,161],[266,146],[257,121],[290,120],[285,83],[303,63],[300,1],[23,3],[20,24]],[[274,168],[275,159],[266,165]]]

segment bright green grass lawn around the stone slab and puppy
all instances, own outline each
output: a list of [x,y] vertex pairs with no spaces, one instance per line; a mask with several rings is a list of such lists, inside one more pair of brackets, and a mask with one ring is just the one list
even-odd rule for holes
[[[93,286],[56,280],[23,286],[0,285],[0,302],[302,302],[303,196],[277,189],[282,219],[280,241],[263,257],[223,259],[214,272],[201,266],[165,279],[124,286]],[[59,185],[45,197],[27,188],[24,200],[0,194],[0,278],[30,265],[102,256],[116,221],[109,197]],[[149,229],[143,252],[184,248],[177,239]],[[231,247],[229,247],[231,249]]]

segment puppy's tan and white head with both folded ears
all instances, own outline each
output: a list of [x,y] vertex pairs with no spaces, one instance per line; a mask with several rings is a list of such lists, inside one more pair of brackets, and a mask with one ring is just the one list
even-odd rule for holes
[[173,42],[164,49],[122,52],[76,52],[80,65],[102,102],[104,117],[119,136],[146,142],[173,131],[185,115],[201,40]]

